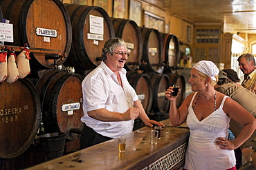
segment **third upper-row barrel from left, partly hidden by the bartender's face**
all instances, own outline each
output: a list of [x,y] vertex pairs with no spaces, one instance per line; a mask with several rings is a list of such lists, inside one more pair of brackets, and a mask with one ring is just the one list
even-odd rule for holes
[[136,22],[129,19],[116,19],[111,17],[111,20],[113,21],[116,37],[125,40],[125,43],[127,44],[127,52],[130,53],[129,58],[125,63],[125,68],[134,71],[139,68],[143,55],[143,40],[140,29]]

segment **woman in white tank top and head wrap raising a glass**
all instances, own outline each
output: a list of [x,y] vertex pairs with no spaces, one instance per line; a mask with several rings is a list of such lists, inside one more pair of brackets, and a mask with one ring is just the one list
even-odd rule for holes
[[[253,134],[255,118],[234,100],[214,90],[219,69],[212,61],[199,61],[190,72],[188,80],[192,91],[179,109],[172,87],[165,91],[170,100],[170,121],[179,126],[187,121],[190,138],[184,169],[235,170],[237,149]],[[244,125],[236,140],[228,140],[230,118]]]

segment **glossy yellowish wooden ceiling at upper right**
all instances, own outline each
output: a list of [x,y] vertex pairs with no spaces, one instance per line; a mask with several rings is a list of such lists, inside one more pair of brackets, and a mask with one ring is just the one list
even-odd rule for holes
[[223,23],[223,32],[256,34],[256,0],[144,0],[194,24]]

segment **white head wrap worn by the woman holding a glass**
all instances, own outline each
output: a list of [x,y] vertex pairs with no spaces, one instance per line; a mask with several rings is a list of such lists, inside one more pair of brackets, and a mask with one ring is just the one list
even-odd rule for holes
[[212,61],[199,61],[193,66],[193,68],[199,70],[199,72],[202,72],[207,76],[210,76],[210,78],[212,78],[212,81],[216,81],[216,78],[214,76],[217,76],[219,74],[218,67]]

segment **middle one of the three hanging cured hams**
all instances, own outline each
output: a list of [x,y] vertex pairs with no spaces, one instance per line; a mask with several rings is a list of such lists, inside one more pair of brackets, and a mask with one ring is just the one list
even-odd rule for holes
[[19,78],[19,70],[17,68],[16,59],[15,59],[15,50],[10,49],[10,55],[8,56],[7,61],[7,78],[8,83],[13,83]]

